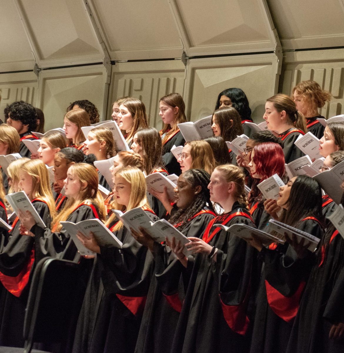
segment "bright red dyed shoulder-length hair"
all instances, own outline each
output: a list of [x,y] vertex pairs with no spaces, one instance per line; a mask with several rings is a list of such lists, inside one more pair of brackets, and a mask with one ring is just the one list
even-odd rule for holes
[[253,150],[253,162],[256,166],[255,170],[257,174],[262,175],[260,182],[270,178],[273,174],[277,174],[280,178],[283,177],[285,173],[284,153],[278,143],[259,143],[254,146]]

